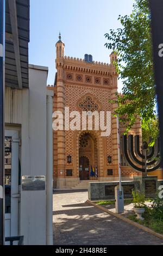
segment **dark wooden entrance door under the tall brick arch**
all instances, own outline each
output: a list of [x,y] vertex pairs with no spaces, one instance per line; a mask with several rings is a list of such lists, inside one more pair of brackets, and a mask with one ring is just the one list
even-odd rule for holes
[[90,179],[90,162],[86,156],[81,156],[79,159],[79,177],[80,180]]

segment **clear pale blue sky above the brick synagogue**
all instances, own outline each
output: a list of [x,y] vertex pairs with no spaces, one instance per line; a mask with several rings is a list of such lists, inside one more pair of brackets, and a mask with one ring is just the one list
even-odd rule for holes
[[[30,0],[29,63],[48,66],[48,84],[54,83],[55,43],[59,31],[65,55],[110,62],[104,34],[120,27],[118,15],[130,14],[134,0]],[[119,82],[119,90],[122,84]]]

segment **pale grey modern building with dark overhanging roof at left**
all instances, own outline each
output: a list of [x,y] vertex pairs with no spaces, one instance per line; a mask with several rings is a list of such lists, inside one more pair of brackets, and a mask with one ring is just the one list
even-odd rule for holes
[[5,27],[5,237],[52,245],[53,92],[28,64],[29,0],[6,1]]

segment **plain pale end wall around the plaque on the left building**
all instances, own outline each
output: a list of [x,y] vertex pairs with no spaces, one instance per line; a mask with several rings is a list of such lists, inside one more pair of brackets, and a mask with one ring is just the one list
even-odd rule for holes
[[[46,82],[48,69],[29,65],[22,92],[21,175],[46,176]],[[46,244],[46,191],[21,191],[24,245]]]

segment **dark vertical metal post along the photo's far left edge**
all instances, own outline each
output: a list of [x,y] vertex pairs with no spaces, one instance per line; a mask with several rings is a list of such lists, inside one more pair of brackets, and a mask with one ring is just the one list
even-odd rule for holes
[[4,245],[4,25],[5,3],[0,0],[0,245]]

